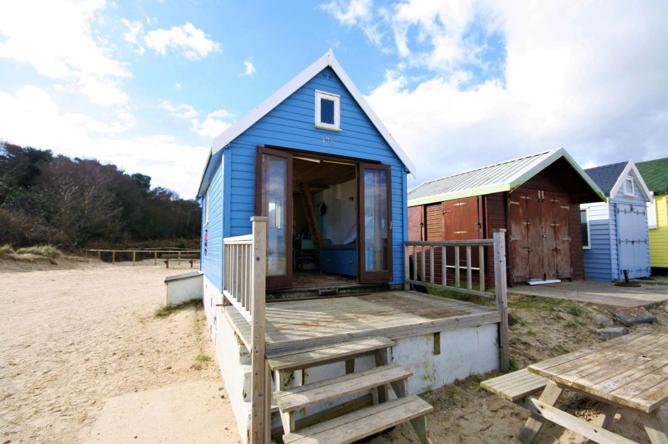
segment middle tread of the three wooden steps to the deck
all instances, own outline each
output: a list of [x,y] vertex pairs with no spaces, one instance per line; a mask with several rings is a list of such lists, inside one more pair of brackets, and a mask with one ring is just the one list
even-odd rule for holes
[[351,373],[326,381],[278,391],[273,396],[281,413],[287,413],[311,404],[342,397],[349,393],[406,379],[412,374],[411,370],[401,367],[401,365],[381,365],[363,372]]

